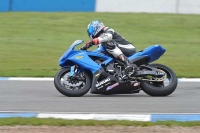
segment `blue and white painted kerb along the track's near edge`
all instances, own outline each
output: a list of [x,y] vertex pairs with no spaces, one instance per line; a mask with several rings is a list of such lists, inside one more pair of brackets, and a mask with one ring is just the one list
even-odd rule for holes
[[0,112],[0,118],[59,118],[67,120],[128,120],[128,121],[200,121],[200,114],[75,114]]

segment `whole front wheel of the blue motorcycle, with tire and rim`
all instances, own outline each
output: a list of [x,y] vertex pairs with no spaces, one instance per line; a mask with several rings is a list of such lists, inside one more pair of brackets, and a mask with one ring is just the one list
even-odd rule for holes
[[68,97],[80,97],[85,95],[91,87],[91,79],[86,72],[81,72],[83,80],[70,79],[70,68],[60,69],[54,77],[56,89]]

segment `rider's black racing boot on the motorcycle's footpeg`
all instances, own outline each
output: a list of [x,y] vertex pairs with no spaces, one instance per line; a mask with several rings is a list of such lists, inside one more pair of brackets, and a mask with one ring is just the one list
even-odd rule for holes
[[124,69],[125,73],[128,73],[128,72],[133,72],[133,74],[135,73],[135,70],[136,70],[135,65],[131,64],[129,59],[125,55],[123,54],[119,55],[119,59],[125,65],[125,69]]

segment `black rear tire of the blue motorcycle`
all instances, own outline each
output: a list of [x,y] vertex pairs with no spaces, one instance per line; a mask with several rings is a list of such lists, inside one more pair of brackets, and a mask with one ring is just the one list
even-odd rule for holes
[[176,74],[169,67],[161,64],[150,64],[150,67],[154,67],[164,71],[167,74],[167,79],[169,80],[169,85],[164,86],[164,82],[149,82],[142,81],[141,89],[150,96],[168,96],[177,87],[177,77]]

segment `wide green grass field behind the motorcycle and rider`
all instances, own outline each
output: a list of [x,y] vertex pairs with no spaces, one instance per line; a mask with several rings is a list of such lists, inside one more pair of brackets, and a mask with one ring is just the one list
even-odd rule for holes
[[200,15],[134,13],[0,13],[0,76],[52,77],[58,59],[100,19],[137,50],[161,44],[157,62],[178,77],[200,77]]

